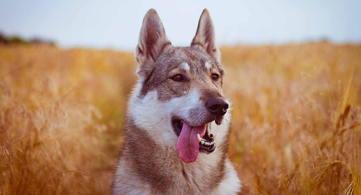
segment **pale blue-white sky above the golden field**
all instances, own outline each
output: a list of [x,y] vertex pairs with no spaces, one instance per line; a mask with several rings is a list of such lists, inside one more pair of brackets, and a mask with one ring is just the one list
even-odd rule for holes
[[207,8],[222,44],[284,44],[327,37],[361,42],[361,1],[4,1],[0,32],[61,47],[134,50],[145,13],[158,12],[169,40],[188,46]]

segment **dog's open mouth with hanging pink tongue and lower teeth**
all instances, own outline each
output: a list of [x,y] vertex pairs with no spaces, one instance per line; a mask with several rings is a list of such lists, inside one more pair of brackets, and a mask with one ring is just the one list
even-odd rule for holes
[[199,151],[210,154],[216,149],[218,134],[210,133],[210,122],[201,126],[190,126],[180,119],[174,119],[172,125],[178,135],[178,154],[184,162],[195,162]]

